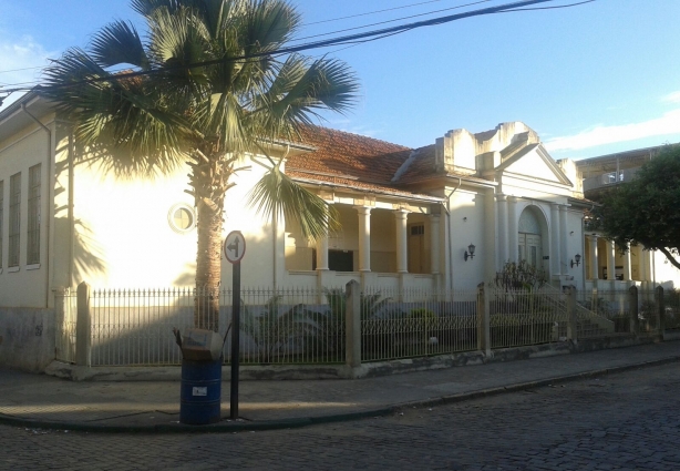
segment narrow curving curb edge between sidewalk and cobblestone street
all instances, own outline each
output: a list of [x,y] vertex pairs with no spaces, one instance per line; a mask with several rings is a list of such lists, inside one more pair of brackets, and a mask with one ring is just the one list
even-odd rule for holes
[[561,382],[577,381],[580,379],[595,378],[607,375],[616,375],[630,370],[656,367],[680,361],[680,356],[661,358],[652,361],[643,361],[640,364],[621,365],[618,367],[602,368],[597,370],[584,371],[573,375],[556,376],[536,381],[518,382],[497,388],[481,389],[477,391],[461,392],[452,396],[443,396],[441,398],[424,399],[419,401],[401,402],[392,406],[387,406],[378,409],[336,413],[320,417],[303,417],[296,419],[280,420],[264,420],[257,422],[221,422],[210,426],[186,426],[177,424],[157,424],[157,426],[97,426],[89,422],[61,422],[38,419],[25,419],[13,416],[0,414],[0,424],[12,427],[30,427],[35,429],[49,430],[70,430],[79,432],[97,432],[97,433],[236,433],[244,431],[265,431],[280,430],[308,427],[321,423],[346,422],[352,420],[367,419],[370,417],[384,417],[391,413],[399,412],[406,408],[422,408],[432,406],[444,406],[455,402],[463,402],[485,397],[498,396],[507,392],[517,392],[527,389],[540,388]]

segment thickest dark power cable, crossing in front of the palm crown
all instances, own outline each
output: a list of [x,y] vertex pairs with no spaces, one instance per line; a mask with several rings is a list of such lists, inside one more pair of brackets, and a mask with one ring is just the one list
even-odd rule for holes
[[[59,84],[59,85],[50,85],[50,89],[55,90],[55,89],[71,88],[71,86],[78,86],[78,85],[83,85],[83,84],[89,84],[89,83],[113,82],[113,81],[119,81],[119,80],[123,80],[123,79],[131,79],[131,78],[134,78],[134,76],[150,75],[150,74],[153,74],[153,73],[165,72],[165,71],[171,71],[171,70],[197,69],[197,68],[203,68],[203,66],[216,65],[216,64],[224,63],[224,62],[246,61],[246,60],[249,60],[249,59],[257,59],[257,58],[267,57],[267,55],[269,55],[269,57],[272,57],[272,55],[285,55],[285,54],[291,54],[291,53],[295,53],[295,52],[307,51],[307,50],[311,50],[311,49],[327,48],[327,47],[330,47],[330,45],[356,44],[356,43],[361,43],[361,42],[374,41],[374,40],[387,38],[387,37],[394,35],[394,34],[400,34],[400,33],[403,33],[403,32],[406,32],[406,31],[419,29],[419,28],[437,25],[437,24],[444,24],[444,23],[449,23],[449,22],[452,22],[452,21],[462,20],[464,18],[473,18],[473,17],[480,17],[480,16],[493,14],[493,13],[499,13],[499,12],[506,12],[506,11],[515,11],[515,9],[518,9],[518,8],[522,8],[522,7],[528,7],[528,6],[532,6],[532,4],[545,3],[545,2],[549,2],[549,1],[555,1],[555,0],[523,0],[523,1],[516,1],[516,2],[512,2],[512,3],[504,3],[504,4],[498,6],[498,7],[490,7],[490,8],[478,9],[478,10],[472,10],[472,11],[467,11],[467,12],[464,12],[464,13],[451,14],[451,16],[446,16],[446,17],[440,17],[440,18],[434,18],[434,19],[430,19],[430,20],[418,21],[418,22],[413,22],[413,23],[408,23],[408,24],[402,24],[402,25],[398,25],[398,27],[385,28],[385,29],[381,29],[381,30],[367,31],[367,32],[350,34],[350,35],[346,35],[346,37],[341,37],[341,38],[336,38],[336,39],[328,39],[328,40],[322,40],[322,41],[310,42],[310,43],[307,43],[307,44],[300,44],[300,45],[295,45],[295,47],[281,48],[281,49],[276,50],[276,51],[258,52],[258,53],[239,55],[239,57],[227,58],[227,59],[215,59],[215,60],[210,60],[210,61],[196,62],[196,63],[193,63],[193,64],[162,68],[162,69],[152,70],[152,71],[137,71],[137,72],[130,72],[130,73],[120,73],[120,74],[116,74],[116,75],[99,76],[99,78],[85,79],[85,80],[81,80],[81,81],[72,82],[72,83],[64,83],[64,84]],[[595,0],[589,0],[589,1],[595,1]],[[580,3],[578,3],[578,4],[580,4]],[[570,6],[565,6],[565,7],[574,7],[574,6],[576,6],[576,4],[570,4]],[[44,86],[43,85],[38,85],[37,86],[37,89],[40,89],[40,88],[44,88]],[[14,91],[29,91],[29,90],[32,90],[32,89],[25,89],[25,88],[7,89],[7,90],[2,90],[2,92],[3,93],[8,93],[8,92],[14,92]]]

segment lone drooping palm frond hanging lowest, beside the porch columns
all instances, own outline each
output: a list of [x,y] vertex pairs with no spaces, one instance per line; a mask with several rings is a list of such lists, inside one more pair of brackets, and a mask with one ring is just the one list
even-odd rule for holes
[[334,207],[275,166],[248,194],[249,206],[269,217],[296,221],[305,237],[320,238],[340,226]]

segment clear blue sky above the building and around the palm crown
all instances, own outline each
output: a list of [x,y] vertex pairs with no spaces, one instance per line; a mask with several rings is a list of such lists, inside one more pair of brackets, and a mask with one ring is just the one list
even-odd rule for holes
[[[300,37],[474,1],[293,0],[307,23],[422,3],[309,24]],[[44,65],[70,45],[85,45],[113,19],[138,22],[127,0],[0,0],[0,85],[6,86],[40,79],[39,69],[6,71]],[[426,18],[432,16],[418,19]],[[679,20],[680,0],[597,0],[465,19],[309,53],[344,60],[361,80],[358,106],[347,116],[328,116],[331,127],[416,147],[453,129],[480,132],[524,121],[555,158],[583,158],[680,142]]]

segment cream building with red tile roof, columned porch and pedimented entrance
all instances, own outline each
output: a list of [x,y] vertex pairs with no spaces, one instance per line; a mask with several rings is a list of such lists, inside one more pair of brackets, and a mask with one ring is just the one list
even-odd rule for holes
[[[522,258],[545,268],[555,286],[585,286],[583,264],[571,264],[584,255],[590,207],[577,167],[554,161],[523,123],[451,131],[415,150],[310,127],[300,143],[275,151],[286,155],[286,173],[336,205],[342,228],[315,242],[291,222],[256,215],[247,195],[265,168],[251,165],[227,194],[224,226],[247,238],[244,286],[359,279],[385,289],[474,289]],[[83,152],[69,123],[34,94],[0,113],[0,306],[51,307],[54,290],[83,280],[193,285],[187,170],[124,180]]]

